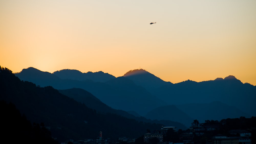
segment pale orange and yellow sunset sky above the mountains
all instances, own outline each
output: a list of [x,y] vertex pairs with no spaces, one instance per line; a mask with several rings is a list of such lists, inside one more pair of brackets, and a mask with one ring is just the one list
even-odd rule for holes
[[[255,0],[0,0],[0,65],[256,85]],[[150,25],[151,22],[156,24]]]

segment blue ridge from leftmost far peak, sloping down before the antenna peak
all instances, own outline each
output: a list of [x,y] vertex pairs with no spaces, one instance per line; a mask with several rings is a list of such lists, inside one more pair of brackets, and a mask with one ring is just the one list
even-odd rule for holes
[[[30,72],[32,70],[33,72]],[[27,74],[28,73],[28,74]],[[121,110],[134,110],[140,115],[146,114],[149,110],[161,105],[165,105],[164,101],[159,100],[144,87],[136,85],[133,81],[125,77],[117,77],[105,83],[93,82],[92,80],[78,81],[70,79],[60,79],[54,74],[48,72],[35,71],[32,68],[23,69],[20,73],[15,74],[21,77],[21,80],[27,81],[26,76],[29,75],[29,81],[36,85],[52,86],[59,90],[70,88],[82,88],[106,105]],[[34,79],[32,78],[34,77]],[[52,79],[50,77],[57,77]]]

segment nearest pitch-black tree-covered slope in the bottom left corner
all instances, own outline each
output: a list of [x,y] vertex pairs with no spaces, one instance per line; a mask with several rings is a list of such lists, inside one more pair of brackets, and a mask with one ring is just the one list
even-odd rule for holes
[[25,115],[20,114],[14,104],[7,104],[1,100],[0,113],[2,141],[9,141],[9,143],[26,142],[28,144],[58,143],[51,137],[51,132],[44,126],[44,123],[32,125]]

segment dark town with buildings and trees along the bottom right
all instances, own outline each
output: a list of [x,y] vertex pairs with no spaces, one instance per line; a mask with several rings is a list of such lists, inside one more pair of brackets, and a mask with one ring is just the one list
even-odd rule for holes
[[67,140],[61,144],[112,144],[112,143],[148,143],[148,144],[252,144],[255,142],[255,120],[251,118],[233,118],[194,120],[187,130],[177,130],[173,126],[161,126],[159,130],[150,131],[139,138],[120,137],[118,140],[104,139],[102,131],[96,139],[79,141]]

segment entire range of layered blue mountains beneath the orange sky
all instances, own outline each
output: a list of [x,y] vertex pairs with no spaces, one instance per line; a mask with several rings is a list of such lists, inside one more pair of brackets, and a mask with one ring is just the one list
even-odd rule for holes
[[243,84],[231,75],[224,79],[173,84],[143,69],[131,70],[121,77],[104,72],[88,73],[69,69],[48,73],[28,68],[15,75],[20,80],[58,90],[81,88],[111,108],[150,119],[182,121],[187,127],[191,119],[203,122],[256,115],[256,86]]

